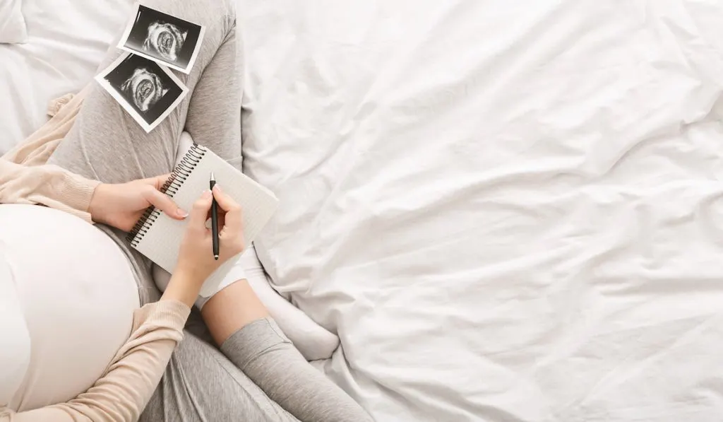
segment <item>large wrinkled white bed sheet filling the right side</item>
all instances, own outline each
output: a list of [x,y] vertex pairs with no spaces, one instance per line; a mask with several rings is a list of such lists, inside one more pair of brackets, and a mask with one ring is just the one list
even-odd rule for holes
[[241,1],[275,287],[377,421],[719,421],[723,3]]

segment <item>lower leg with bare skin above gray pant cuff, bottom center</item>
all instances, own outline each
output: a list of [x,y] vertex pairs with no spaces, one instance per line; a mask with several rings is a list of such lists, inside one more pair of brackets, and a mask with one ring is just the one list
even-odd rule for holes
[[300,421],[372,421],[346,392],[309,365],[268,318],[246,280],[216,293],[202,314],[223,354]]

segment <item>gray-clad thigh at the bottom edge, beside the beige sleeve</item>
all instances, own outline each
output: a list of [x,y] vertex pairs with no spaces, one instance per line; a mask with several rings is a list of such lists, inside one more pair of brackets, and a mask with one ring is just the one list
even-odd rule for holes
[[140,422],[298,422],[218,351],[189,332]]

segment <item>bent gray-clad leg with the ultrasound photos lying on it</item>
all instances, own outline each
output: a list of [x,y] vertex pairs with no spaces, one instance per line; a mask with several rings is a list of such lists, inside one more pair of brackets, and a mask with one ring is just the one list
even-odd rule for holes
[[[142,4],[205,25],[200,53],[189,73],[171,70],[189,88],[184,101],[151,132],[93,82],[67,137],[49,160],[101,182],[128,182],[170,172],[181,131],[224,159],[241,155],[239,66],[234,0],[146,0]],[[119,28],[119,35],[121,29]],[[121,54],[108,50],[100,69]]]

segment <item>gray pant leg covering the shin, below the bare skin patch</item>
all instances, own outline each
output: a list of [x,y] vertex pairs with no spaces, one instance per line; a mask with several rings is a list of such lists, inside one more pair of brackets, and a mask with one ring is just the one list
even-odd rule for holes
[[364,422],[372,418],[312,368],[270,318],[244,326],[221,351],[272,400],[302,422]]

